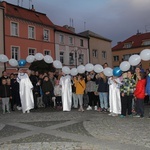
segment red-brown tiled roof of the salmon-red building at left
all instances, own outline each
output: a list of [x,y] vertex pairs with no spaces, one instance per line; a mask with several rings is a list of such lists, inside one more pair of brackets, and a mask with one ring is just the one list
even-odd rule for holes
[[34,9],[26,9],[17,5],[12,5],[7,2],[2,2],[2,6],[5,7],[5,15],[28,20],[31,22],[39,23],[42,25],[54,26],[51,20],[46,14],[35,11]]

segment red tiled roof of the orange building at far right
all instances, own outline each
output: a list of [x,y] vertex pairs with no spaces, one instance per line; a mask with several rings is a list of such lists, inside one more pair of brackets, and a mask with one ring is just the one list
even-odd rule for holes
[[142,47],[142,46],[144,46],[144,45],[142,45],[144,40],[150,40],[150,32],[137,33],[136,35],[129,37],[125,41],[119,42],[116,46],[114,46],[112,48],[112,51],[127,49],[124,47],[124,44],[127,44],[127,43],[132,44],[130,48]]

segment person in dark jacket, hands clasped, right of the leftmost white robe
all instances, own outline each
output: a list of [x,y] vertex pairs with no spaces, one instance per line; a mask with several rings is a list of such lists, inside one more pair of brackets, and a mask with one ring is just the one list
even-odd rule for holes
[[43,102],[45,104],[45,108],[47,106],[53,107],[54,104],[52,102],[52,97],[54,96],[54,93],[53,93],[54,89],[48,76],[45,76],[43,79],[42,91],[43,91]]

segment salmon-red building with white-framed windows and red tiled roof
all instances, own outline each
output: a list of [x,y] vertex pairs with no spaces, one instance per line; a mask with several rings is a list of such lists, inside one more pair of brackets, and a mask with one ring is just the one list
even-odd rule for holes
[[[5,22],[5,55],[8,59],[26,59],[28,55],[54,54],[54,24],[46,14],[2,2]],[[28,67],[27,64],[25,67]],[[6,63],[8,72],[15,67]]]

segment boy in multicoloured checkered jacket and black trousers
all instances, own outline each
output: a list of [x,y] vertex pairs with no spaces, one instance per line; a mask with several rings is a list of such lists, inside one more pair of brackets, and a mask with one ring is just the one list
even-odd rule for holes
[[129,70],[127,72],[127,77],[123,78],[122,85],[120,87],[121,91],[121,118],[126,116],[126,111],[128,110],[128,115],[132,116],[132,99],[135,90],[136,81],[133,78],[134,72]]

